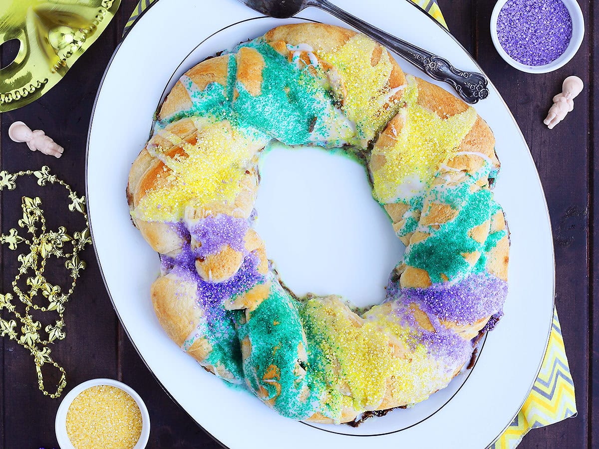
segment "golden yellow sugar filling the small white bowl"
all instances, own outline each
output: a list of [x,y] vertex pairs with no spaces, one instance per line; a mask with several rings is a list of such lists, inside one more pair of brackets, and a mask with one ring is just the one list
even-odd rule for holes
[[69,406],[66,433],[75,449],[131,449],[140,439],[141,411],[117,387],[90,387]]

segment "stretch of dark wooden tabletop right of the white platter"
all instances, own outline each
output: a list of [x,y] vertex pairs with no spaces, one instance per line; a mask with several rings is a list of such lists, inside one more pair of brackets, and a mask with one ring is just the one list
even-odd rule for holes
[[[443,1],[439,3],[443,11],[450,8]],[[589,2],[579,3],[585,17],[589,17]],[[576,74],[588,86],[591,40],[587,35],[574,59],[555,72],[543,75],[519,72],[504,62],[492,46],[489,22],[493,7],[494,2],[477,2],[477,60],[516,117],[543,183],[553,227],[555,302],[576,387],[578,408],[577,418],[531,430],[520,447],[582,448],[587,444],[589,425],[588,87],[576,99],[576,108],[568,114],[565,122],[549,130],[542,121],[552,104],[552,96],[561,92],[565,77]]]

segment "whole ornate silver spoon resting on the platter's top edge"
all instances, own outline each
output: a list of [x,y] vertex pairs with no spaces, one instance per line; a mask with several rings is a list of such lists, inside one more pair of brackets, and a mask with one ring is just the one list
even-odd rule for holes
[[346,11],[328,2],[327,0],[239,0],[258,13],[265,16],[287,19],[295,16],[299,11],[313,6],[320,8],[343,22],[349,23],[365,35],[370,36],[379,43],[385,45],[403,57],[407,62],[418,67],[429,77],[437,81],[450,84],[464,101],[474,104],[489,96],[486,78],[476,72],[465,72],[453,67],[447,59],[437,56],[430,51],[423,50],[416,45],[410,44],[400,38],[382,31],[375,26],[368,25],[358,17],[346,13]]

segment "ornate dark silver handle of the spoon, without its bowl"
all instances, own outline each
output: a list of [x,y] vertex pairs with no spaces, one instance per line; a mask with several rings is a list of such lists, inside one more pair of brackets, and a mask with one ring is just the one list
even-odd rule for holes
[[474,104],[489,96],[488,81],[482,74],[456,69],[447,59],[416,47],[416,45],[392,36],[375,26],[368,25],[368,23],[346,13],[346,11],[327,0],[308,0],[307,3],[327,11],[343,20],[343,22],[359,29],[359,31],[385,45],[385,47],[395,51],[407,62],[418,67],[434,80],[450,84],[465,102]]

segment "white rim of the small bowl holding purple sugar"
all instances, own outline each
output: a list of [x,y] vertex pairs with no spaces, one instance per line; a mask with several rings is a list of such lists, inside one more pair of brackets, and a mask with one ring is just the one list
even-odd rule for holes
[[506,50],[501,47],[499,42],[499,38],[497,37],[497,18],[499,17],[499,12],[503,5],[507,3],[507,0],[499,0],[497,4],[495,4],[495,8],[493,8],[493,12],[491,13],[491,39],[493,41],[493,45],[495,45],[495,49],[497,53],[500,54],[501,57],[512,67],[528,73],[547,73],[557,70],[561,66],[565,65],[574,57],[574,54],[580,48],[580,44],[582,43],[582,38],[585,35],[585,19],[582,16],[582,11],[580,11],[580,6],[576,0],[562,0],[565,7],[568,9],[568,13],[570,13],[570,17],[572,18],[572,37],[570,39],[570,44],[565,49],[564,53],[561,54],[557,59],[545,65],[525,65],[517,60],[513,59],[512,56],[507,54]]

